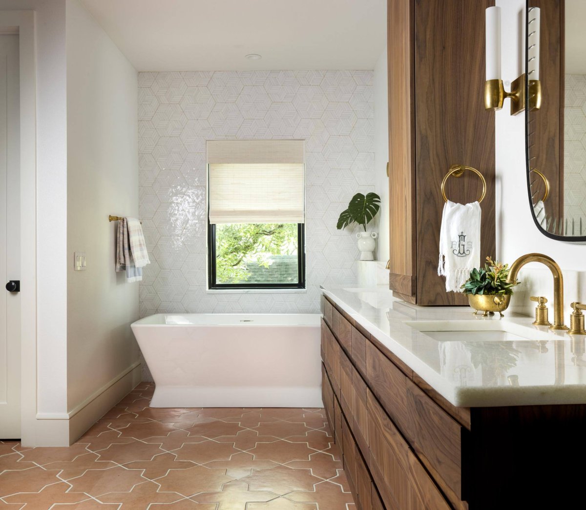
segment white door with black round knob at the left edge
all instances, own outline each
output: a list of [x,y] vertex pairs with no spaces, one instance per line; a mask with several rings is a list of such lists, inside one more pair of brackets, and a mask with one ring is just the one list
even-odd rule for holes
[[[20,280],[18,35],[0,35],[0,285]],[[21,298],[0,287],[0,439],[21,437]]]

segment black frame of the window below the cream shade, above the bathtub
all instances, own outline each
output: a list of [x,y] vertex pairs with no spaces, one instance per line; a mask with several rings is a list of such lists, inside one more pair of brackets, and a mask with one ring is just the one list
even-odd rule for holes
[[305,289],[305,224],[297,224],[297,263],[299,282],[287,283],[217,283],[216,282],[216,225],[207,221],[207,288],[227,289]]

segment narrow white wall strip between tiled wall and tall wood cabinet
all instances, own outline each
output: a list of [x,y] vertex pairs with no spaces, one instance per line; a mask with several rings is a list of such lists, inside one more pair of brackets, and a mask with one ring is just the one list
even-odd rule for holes
[[[379,240],[377,259],[389,259],[389,76],[387,74],[387,48],[374,66],[374,190],[380,196]],[[388,273],[387,273],[388,276]]]

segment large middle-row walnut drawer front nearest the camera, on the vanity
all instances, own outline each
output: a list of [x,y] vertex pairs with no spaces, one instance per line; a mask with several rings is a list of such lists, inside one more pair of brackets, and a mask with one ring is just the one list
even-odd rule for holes
[[370,390],[370,471],[386,508],[448,510],[440,490]]

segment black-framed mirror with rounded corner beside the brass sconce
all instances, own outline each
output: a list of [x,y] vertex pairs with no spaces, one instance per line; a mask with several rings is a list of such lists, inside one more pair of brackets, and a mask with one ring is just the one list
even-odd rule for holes
[[528,0],[526,139],[537,227],[586,242],[586,1]]

